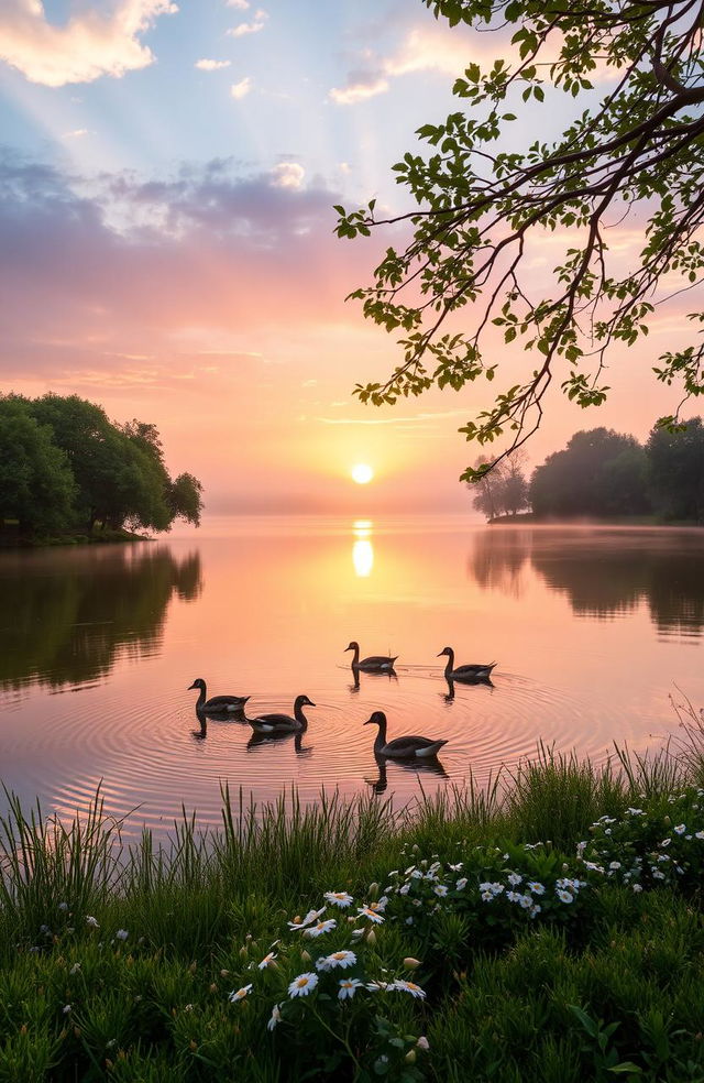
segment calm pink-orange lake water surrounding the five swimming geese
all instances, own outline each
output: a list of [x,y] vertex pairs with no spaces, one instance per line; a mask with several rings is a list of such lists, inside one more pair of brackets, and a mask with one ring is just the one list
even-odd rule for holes
[[[163,832],[182,802],[219,819],[221,781],[257,800],[295,784],[409,798],[485,779],[539,740],[603,761],[676,729],[679,686],[704,703],[704,530],[497,528],[448,519],[230,519],[134,546],[0,554],[0,778],[26,802],[74,811],[102,781]],[[397,677],[350,655],[398,654]],[[493,687],[442,676],[498,661]],[[194,678],[251,694],[250,713],[308,694],[310,726],[252,744],[211,721]],[[389,736],[447,737],[441,768],[376,763]],[[1,801],[0,801],[1,803]]]

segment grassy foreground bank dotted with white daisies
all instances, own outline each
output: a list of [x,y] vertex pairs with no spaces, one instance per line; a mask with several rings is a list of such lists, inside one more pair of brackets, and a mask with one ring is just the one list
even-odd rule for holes
[[704,1076],[704,734],[413,809],[295,794],[167,851],[14,802],[0,1079]]

